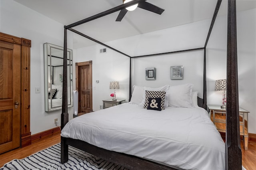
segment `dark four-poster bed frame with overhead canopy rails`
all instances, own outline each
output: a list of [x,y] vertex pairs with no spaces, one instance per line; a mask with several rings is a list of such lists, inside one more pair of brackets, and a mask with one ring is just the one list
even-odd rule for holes
[[[141,55],[131,57],[117,49],[114,49],[104,43],[101,43],[85,34],[82,34],[72,27],[84,24],[91,20],[95,20],[102,16],[111,14],[113,12],[124,9],[128,6],[136,4],[138,2],[145,0],[133,0],[126,4],[122,4],[110,10],[101,12],[84,20],[80,20],[68,26],[64,26],[64,69],[63,69],[63,100],[62,100],[62,114],[61,114],[61,128],[63,128],[68,122],[68,103],[67,103],[67,30],[70,30],[76,34],[79,34],[85,38],[88,38],[94,42],[97,42],[105,47],[108,47],[118,53],[121,53],[127,57],[130,57],[130,82],[129,82],[129,101],[132,95],[132,83],[131,83],[131,62],[132,58],[138,57],[148,57],[154,55],[165,55],[171,53],[181,53],[186,51],[195,51],[195,50],[204,50],[204,77],[203,77],[203,99],[198,97],[198,106],[203,107],[208,111],[207,107],[207,95],[206,95],[206,46],[214,26],[216,16],[222,0],[217,0],[216,8],[214,15],[212,17],[212,22],[208,31],[208,36],[204,47],[195,48],[195,49],[186,49],[181,51],[172,51],[167,53],[157,53],[150,55]],[[227,109],[226,109],[226,170],[241,170],[242,169],[242,152],[240,147],[240,129],[239,129],[239,105],[238,105],[238,74],[237,74],[237,47],[236,47],[236,0],[228,0],[228,38],[227,38]],[[68,145],[74,146],[78,149],[84,150],[88,153],[91,153],[95,156],[109,160],[111,162],[120,164],[129,169],[174,169],[162,164],[158,164],[149,160],[144,160],[136,156],[131,156],[123,153],[118,153],[103,148],[98,148],[87,142],[61,137],[61,162],[65,163],[68,161]]]

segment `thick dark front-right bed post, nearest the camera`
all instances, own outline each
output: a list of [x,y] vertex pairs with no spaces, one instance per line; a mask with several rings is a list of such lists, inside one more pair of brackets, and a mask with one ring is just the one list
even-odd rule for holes
[[242,169],[240,146],[236,0],[228,0],[226,170]]

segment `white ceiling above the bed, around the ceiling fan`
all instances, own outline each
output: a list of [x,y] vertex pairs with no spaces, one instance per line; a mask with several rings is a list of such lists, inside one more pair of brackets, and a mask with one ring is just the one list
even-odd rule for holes
[[[122,0],[15,0],[64,25],[88,18],[122,4]],[[80,26],[75,30],[100,42],[108,42],[156,30],[212,18],[217,0],[147,0],[165,9],[162,15],[136,8],[128,11],[121,22],[114,12]],[[227,0],[222,0],[219,15],[227,14]],[[237,0],[237,11],[256,8],[256,0]],[[74,48],[94,42],[74,34]]]

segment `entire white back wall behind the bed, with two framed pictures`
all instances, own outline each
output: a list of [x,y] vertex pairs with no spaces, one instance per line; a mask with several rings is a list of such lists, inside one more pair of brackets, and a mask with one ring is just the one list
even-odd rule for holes
[[[255,53],[256,53],[256,10],[237,13],[238,37],[238,78],[240,107],[247,109],[250,133],[256,133],[255,115]],[[226,30],[227,17],[218,16],[207,48],[207,93],[208,104],[221,105],[222,92],[214,91],[215,80],[226,78]],[[133,36],[106,42],[131,56],[162,53],[182,49],[203,47],[211,20],[204,20],[174,28],[168,28],[148,34]],[[117,91],[118,98],[128,100],[129,60],[108,49],[106,54],[99,54],[101,45],[77,49],[77,61],[92,60],[93,67],[93,109],[98,110],[102,99],[110,98],[108,89],[111,80],[120,80],[123,74],[122,91]],[[110,52],[111,51],[111,52]],[[132,85],[158,87],[165,84],[176,85],[193,83],[194,91],[202,97],[203,51],[193,51],[156,57],[132,59]],[[114,59],[114,60],[112,60]],[[120,66],[123,65],[123,66]],[[170,80],[170,66],[183,65],[184,79]],[[145,68],[156,67],[156,80],[145,80]],[[117,74],[117,73],[120,73]],[[111,75],[111,77],[110,77]],[[95,81],[100,83],[96,84]]]

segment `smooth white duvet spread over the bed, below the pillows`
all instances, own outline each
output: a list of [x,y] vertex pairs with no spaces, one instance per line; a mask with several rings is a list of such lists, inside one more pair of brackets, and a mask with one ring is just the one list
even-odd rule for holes
[[72,119],[61,136],[182,169],[225,169],[225,144],[200,107],[154,111],[124,103]]

